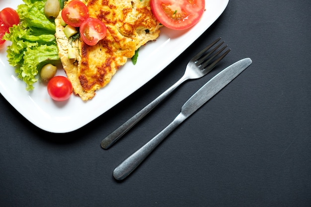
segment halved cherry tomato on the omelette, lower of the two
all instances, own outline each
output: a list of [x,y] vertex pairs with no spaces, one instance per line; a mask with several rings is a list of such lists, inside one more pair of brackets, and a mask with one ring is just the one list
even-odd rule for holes
[[99,40],[106,37],[107,28],[105,23],[96,18],[88,18],[80,26],[80,35],[87,45],[96,45]]

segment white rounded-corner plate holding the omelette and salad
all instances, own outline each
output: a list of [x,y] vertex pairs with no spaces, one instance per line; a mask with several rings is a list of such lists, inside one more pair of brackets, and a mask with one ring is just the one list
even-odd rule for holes
[[[137,64],[134,66],[129,60],[92,100],[83,102],[73,95],[66,102],[55,102],[49,97],[46,85],[39,80],[33,91],[26,91],[26,84],[17,78],[7,62],[6,48],[0,49],[0,93],[38,128],[52,133],[75,131],[108,111],[169,65],[217,20],[229,0],[205,2],[206,10],[198,24],[187,31],[161,28],[160,37],[140,49]],[[22,0],[1,0],[0,9],[16,8],[21,3]],[[65,73],[59,69],[58,74]]]

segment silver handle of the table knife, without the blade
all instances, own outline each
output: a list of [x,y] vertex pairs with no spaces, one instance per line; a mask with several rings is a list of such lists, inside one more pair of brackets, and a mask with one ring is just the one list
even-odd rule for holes
[[113,171],[113,177],[117,180],[123,180],[131,174],[131,172],[133,172],[144,161],[144,159],[156,148],[156,146],[185,119],[186,117],[180,113],[174,121],[164,128],[159,134],[157,134],[156,137],[152,138],[144,146],[125,159],[118,167],[116,167]]

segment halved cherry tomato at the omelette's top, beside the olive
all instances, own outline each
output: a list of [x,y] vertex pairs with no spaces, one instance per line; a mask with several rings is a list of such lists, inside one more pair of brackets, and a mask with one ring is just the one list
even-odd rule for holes
[[82,1],[72,0],[63,8],[62,17],[66,24],[79,27],[88,18],[88,10]]

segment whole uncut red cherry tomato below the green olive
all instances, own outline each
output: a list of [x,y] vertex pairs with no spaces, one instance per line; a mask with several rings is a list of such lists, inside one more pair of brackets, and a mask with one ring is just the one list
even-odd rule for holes
[[48,93],[55,101],[65,101],[69,99],[73,92],[73,85],[65,76],[54,76],[48,82]]

